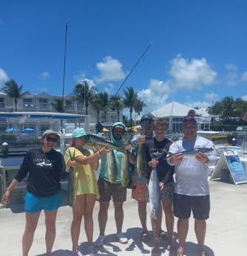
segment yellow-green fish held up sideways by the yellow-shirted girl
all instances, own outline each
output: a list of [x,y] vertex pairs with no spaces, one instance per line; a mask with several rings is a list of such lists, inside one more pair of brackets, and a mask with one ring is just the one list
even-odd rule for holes
[[83,137],[85,139],[85,144],[87,144],[90,147],[92,147],[92,145],[93,145],[93,146],[95,146],[95,148],[101,149],[101,148],[104,148],[105,145],[107,145],[107,149],[109,149],[109,150],[118,149],[118,151],[126,153],[125,149],[124,149],[125,145],[118,146],[112,142],[109,142],[107,140],[104,140],[104,139],[102,139],[96,135],[92,135],[92,134],[87,134],[87,135],[84,135]]

